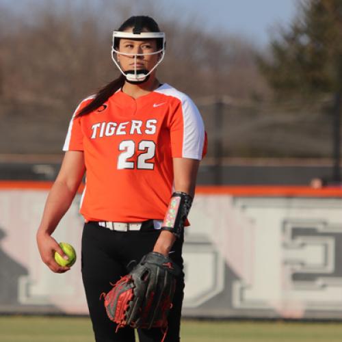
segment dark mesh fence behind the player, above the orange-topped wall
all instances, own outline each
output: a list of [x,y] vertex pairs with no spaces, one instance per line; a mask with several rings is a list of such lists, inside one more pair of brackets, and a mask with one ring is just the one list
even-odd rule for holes
[[[200,183],[308,184],[315,177],[339,183],[332,101],[280,107],[224,96],[197,98],[195,103],[205,121],[209,142],[201,163]],[[54,179],[73,107],[0,105],[2,179],[20,179],[23,174],[29,179]],[[34,157],[28,159],[28,155]],[[280,166],[284,166],[282,170]]]

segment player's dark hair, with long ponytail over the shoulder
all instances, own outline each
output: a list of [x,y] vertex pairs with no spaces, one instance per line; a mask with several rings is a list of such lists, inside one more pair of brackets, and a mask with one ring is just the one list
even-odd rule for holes
[[[158,24],[153,18],[150,18],[150,16],[131,16],[131,18],[128,18],[127,21],[118,28],[118,31],[125,31],[130,27],[133,27],[134,34],[140,34],[143,29],[147,29],[149,32],[160,32]],[[163,42],[157,39],[157,47],[159,49],[161,49],[162,44]],[[98,109],[98,107],[101,107],[101,105],[103,105],[103,103],[105,103],[105,101],[107,101],[114,92],[124,85],[125,80],[126,77],[124,77],[124,75],[120,75],[117,79],[114,79],[114,81],[111,81],[105,87],[98,90],[92,101],[88,103],[86,107],[81,109],[79,113],[77,113],[76,117],[90,114],[95,109]]]

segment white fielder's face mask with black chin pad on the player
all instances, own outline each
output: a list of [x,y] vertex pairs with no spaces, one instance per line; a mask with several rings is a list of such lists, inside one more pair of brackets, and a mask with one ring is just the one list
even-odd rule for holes
[[[131,40],[157,40],[157,51],[151,53],[122,53],[118,51],[120,38],[131,39]],[[163,60],[165,55],[165,34],[163,32],[140,32],[140,33],[132,33],[126,31],[114,31],[113,32],[113,44],[111,46],[111,59],[114,61],[120,73],[126,77],[129,83],[140,84],[144,83],[148,80],[150,74],[157,68],[157,66]],[[147,55],[157,55],[160,54],[158,62],[151,68],[150,70],[146,69],[137,69],[137,56],[147,56]],[[116,56],[124,55],[127,57],[134,57],[134,68],[133,70],[122,70],[120,64],[116,60]]]

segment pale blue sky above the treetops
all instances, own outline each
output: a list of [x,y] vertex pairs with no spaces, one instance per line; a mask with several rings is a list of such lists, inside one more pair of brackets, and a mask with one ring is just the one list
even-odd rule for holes
[[[21,4],[51,0],[0,0],[12,8]],[[71,0],[70,0],[71,1]],[[88,3],[96,6],[96,0],[73,0],[75,3]],[[97,0],[101,2],[101,0]],[[124,0],[111,0],[113,3]],[[277,24],[288,25],[296,13],[296,3],[300,0],[136,0],[139,8],[144,1],[163,5],[174,15],[185,16],[199,21],[209,31],[226,31],[249,38],[254,44],[264,46],[269,40],[269,32]],[[134,1],[133,1],[134,3]],[[168,11],[169,12],[169,11]],[[198,14],[198,16],[196,16]],[[167,14],[166,14],[167,15]],[[197,22],[198,24],[198,22]]]

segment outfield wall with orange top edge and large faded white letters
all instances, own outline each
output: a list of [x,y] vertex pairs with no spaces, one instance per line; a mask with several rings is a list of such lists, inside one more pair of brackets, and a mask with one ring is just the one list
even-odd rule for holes
[[[0,182],[0,313],[88,313],[80,258],[53,274],[36,248],[50,186]],[[78,207],[54,237],[81,255]],[[185,316],[342,319],[341,188],[198,187],[189,219]]]

